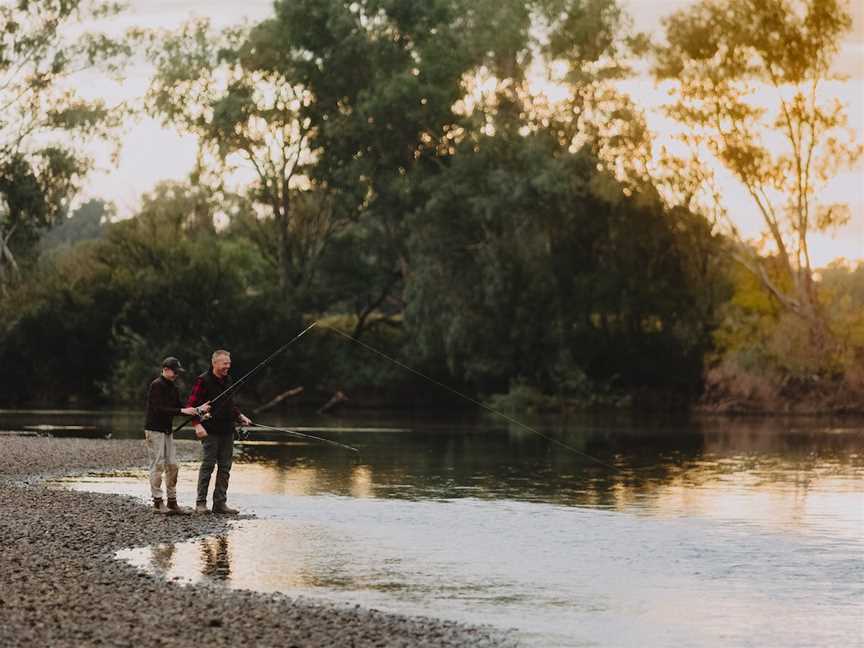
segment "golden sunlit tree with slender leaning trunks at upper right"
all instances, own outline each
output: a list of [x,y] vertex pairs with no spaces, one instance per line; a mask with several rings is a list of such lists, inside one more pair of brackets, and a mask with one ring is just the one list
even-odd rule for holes
[[[819,196],[862,153],[845,107],[822,92],[838,79],[831,65],[850,25],[843,0],[702,0],[666,19],[654,61],[656,78],[673,88],[668,113],[689,129],[694,159],[709,152],[730,171],[765,226],[768,256],[723,212],[736,258],[806,323],[826,360],[832,341],[809,236],[848,219],[848,206]],[[711,176],[706,165],[697,173]]]

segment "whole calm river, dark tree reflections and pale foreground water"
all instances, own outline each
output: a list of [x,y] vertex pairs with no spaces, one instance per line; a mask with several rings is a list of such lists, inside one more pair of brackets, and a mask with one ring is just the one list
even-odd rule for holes
[[[122,437],[139,417],[55,420]],[[255,519],[118,558],[513,628],[526,646],[864,646],[862,421],[531,422],[584,454],[484,418],[262,421],[360,456],[259,436],[237,449],[229,497]],[[195,478],[181,467],[183,503]],[[143,472],[68,485],[148,496]]]

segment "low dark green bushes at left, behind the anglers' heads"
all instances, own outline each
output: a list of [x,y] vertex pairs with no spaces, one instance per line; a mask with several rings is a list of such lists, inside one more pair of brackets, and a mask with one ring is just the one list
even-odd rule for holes
[[291,322],[261,290],[272,270],[248,241],[194,227],[212,222],[206,208],[162,185],[137,217],[46,258],[0,308],[0,362],[15,365],[5,398],[137,401],[165,355],[201,371],[217,347],[240,362],[272,351]]

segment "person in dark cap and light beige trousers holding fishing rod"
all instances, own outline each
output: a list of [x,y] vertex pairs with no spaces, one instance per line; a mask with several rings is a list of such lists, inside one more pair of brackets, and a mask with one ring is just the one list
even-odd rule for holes
[[[153,507],[159,513],[189,513],[177,504],[177,451],[174,447],[172,419],[178,414],[202,416],[210,410],[209,403],[198,407],[182,407],[180,391],[174,381],[183,371],[180,361],[170,356],[162,361],[162,374],[147,390],[147,421],[144,438],[150,454],[150,492]],[[165,474],[165,494],[162,499],[162,474]]]

